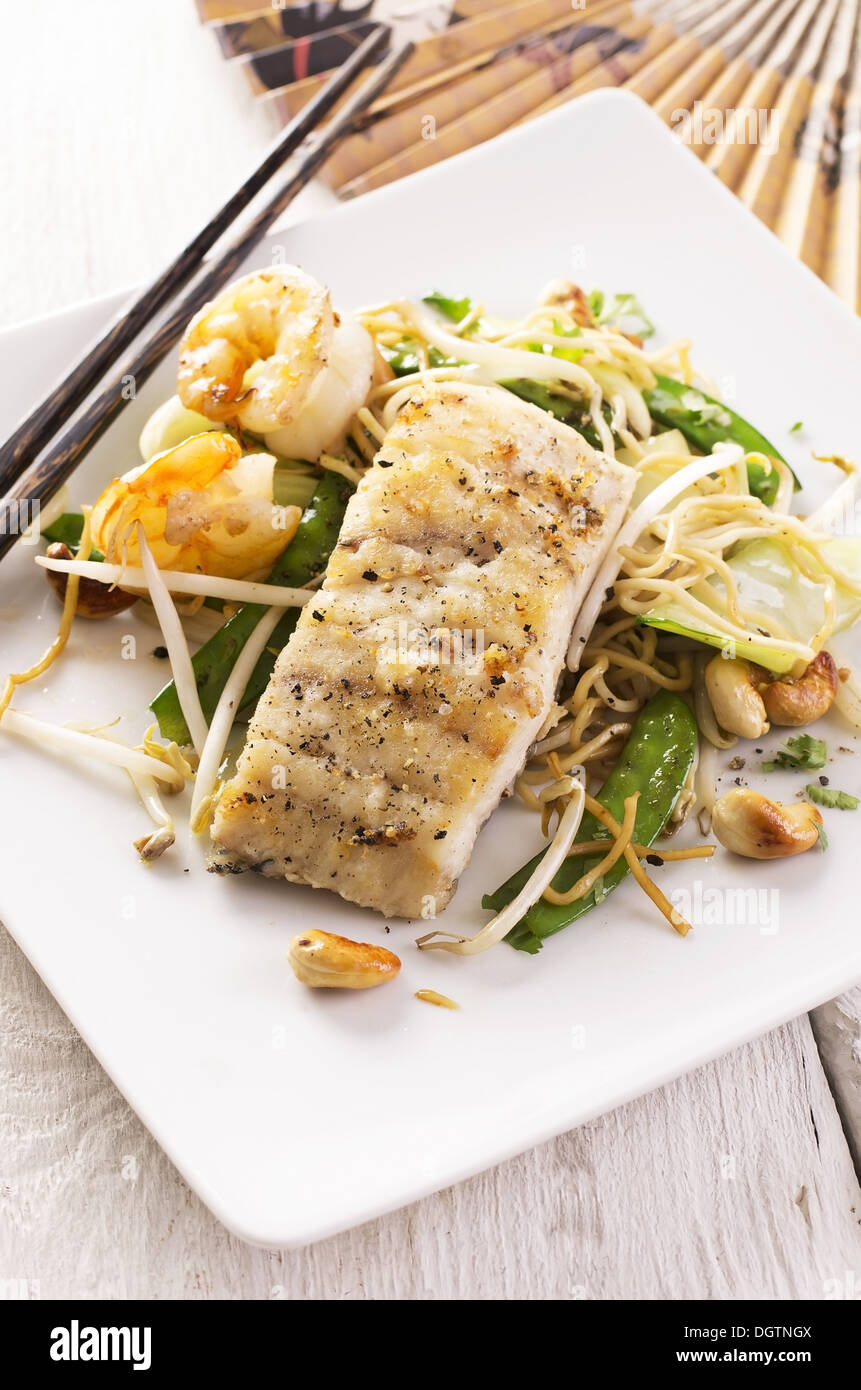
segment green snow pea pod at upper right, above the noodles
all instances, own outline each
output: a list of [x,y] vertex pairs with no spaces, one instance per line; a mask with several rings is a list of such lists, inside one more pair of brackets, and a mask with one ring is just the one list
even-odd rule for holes
[[[746,453],[764,453],[766,457],[786,463],[773,443],[748,424],[743,416],[730,410],[723,402],[715,400],[714,396],[708,396],[698,386],[686,386],[683,381],[673,381],[672,377],[657,374],[657,385],[644,391],[643,399],[652,420],[670,430],[680,430],[687,442],[700,453],[711,453],[716,443],[729,439],[741,445]],[[794,473],[793,478],[797,491],[800,482]],[[768,470],[761,463],[748,463],[747,481],[753,495],[771,507],[780,485],[776,468]]]

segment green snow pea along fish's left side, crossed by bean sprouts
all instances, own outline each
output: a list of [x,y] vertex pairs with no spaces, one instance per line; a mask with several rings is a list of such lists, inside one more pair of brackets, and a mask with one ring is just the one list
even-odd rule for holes
[[[299,528],[275,562],[270,574],[270,582],[299,588],[309,580],[320,574],[338,539],[341,521],[352,488],[339,474],[328,473],[320,480],[314,496],[306,509]],[[207,720],[211,719],[221,691],[230,677],[231,670],[257,623],[266,613],[260,603],[246,603],[239,609],[224,627],[210,637],[209,642],[200,648],[192,660],[200,706]],[[275,664],[275,657],[287,644],[296,626],[298,610],[291,609],[284,614],[275,627],[271,641],[259,657],[250,680],[245,687],[245,695],[239,705],[239,712],[253,705],[268,682]],[[189,731],[179,709],[177,688],[172,681],[161,689],[150,705],[159,728],[164,738],[175,744],[188,744]]]

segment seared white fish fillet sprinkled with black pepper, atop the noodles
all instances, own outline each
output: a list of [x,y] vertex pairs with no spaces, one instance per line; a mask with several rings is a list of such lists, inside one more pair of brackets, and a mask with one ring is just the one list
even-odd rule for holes
[[552,706],[631,489],[499,388],[416,395],[257,705],[211,867],[440,912]]

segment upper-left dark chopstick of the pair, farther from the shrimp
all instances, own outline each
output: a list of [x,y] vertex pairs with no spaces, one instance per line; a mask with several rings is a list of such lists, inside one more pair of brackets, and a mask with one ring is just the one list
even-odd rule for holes
[[367,36],[344,67],[338,68],[325,86],[320,89],[313,101],[296,113],[263,156],[257,168],[227,200],[224,207],[198,232],[167,270],[138,295],[132,304],[120,310],[113,322],[81,354],[64,379],[31,410],[26,420],[21,421],[14,434],[0,446],[0,496],[14,486],[24,468],[83,404],[118,354],[131,346],[138,334],[196,274],[203,256],[228,231],[239,213],[245,211],[285,160],[299,149],[302,140],[316,129],[356,74],[376,57],[389,36],[391,31],[385,25],[380,25]]

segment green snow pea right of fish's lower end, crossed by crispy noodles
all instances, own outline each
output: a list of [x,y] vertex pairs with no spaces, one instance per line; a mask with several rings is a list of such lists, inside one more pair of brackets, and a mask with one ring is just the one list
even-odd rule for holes
[[[658,691],[640,710],[619,762],[604,783],[597,799],[618,821],[625,815],[625,799],[640,792],[634,840],[651,845],[666,824],[679,792],[682,791],[697,751],[697,721],[690,708],[672,691]],[[586,812],[579,841],[606,840],[609,831],[590,812]],[[547,851],[530,859],[516,874],[506,880],[495,892],[481,899],[481,906],[499,912],[523,888],[530,874]],[[587,869],[601,862],[601,856],[590,859],[566,859],[554,878],[554,888],[566,892]],[[590,908],[606,897],[627,876],[625,859],[618,859],[613,867],[595,884],[591,892],[577,902],[552,903],[542,898],[533,903],[526,916],[505,938],[517,951],[534,954],[541,949],[545,937],[570,926]]]

